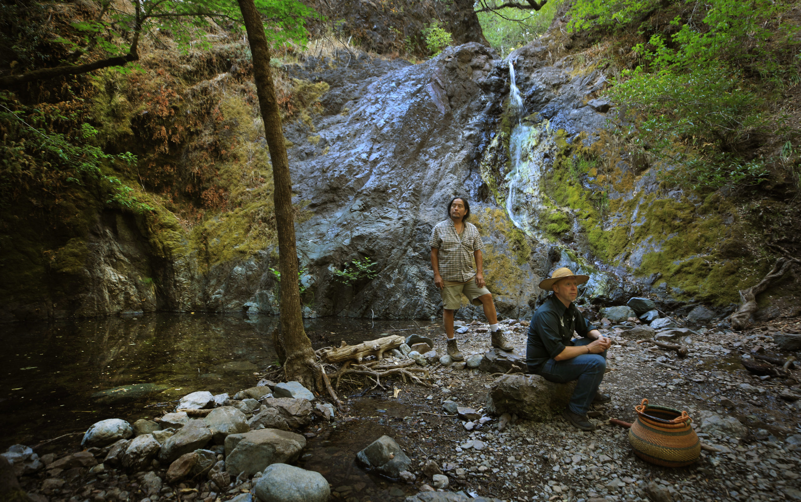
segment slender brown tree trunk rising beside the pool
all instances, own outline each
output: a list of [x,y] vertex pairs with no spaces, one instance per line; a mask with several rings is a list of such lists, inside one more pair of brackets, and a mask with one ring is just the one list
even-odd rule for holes
[[[276,88],[270,73],[270,47],[264,35],[264,24],[253,0],[238,0],[242,10],[248,42],[253,58],[253,78],[259,94],[264,135],[270,149],[272,179],[275,184],[273,199],[278,227],[278,263],[281,272],[281,338],[284,339],[287,380],[296,380],[305,388],[323,391],[319,364],[316,362],[312,342],[306,336],[300,314],[298,290],[298,259],[295,247],[295,217],[292,209],[292,180],[289,177],[289,160],[284,145],[284,131],[276,102]],[[319,384],[319,385],[318,385]]]

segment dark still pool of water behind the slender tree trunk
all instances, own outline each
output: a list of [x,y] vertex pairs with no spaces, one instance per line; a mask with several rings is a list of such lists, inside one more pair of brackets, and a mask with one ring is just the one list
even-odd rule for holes
[[[278,323],[264,315],[159,313],[6,324],[0,334],[0,451],[82,432],[107,418],[160,416],[163,404],[189,392],[252,387],[257,374],[276,363],[272,331]],[[429,326],[306,321],[315,348],[417,328],[422,334]]]

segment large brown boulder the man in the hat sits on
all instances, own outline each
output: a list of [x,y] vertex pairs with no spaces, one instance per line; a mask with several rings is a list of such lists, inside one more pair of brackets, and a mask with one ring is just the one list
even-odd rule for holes
[[540,375],[502,375],[490,385],[487,410],[544,422],[566,408],[574,388],[575,382],[556,384]]

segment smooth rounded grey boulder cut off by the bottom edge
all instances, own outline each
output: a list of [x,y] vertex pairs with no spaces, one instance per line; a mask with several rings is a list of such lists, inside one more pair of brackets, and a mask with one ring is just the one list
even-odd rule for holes
[[331,488],[320,472],[287,464],[272,464],[256,481],[261,502],[326,502]]

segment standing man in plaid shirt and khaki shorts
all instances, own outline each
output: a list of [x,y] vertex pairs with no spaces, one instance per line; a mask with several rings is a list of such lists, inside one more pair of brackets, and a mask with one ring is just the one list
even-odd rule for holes
[[[442,320],[448,339],[448,354],[455,361],[465,359],[453,337],[453,313],[461,306],[463,294],[473,305],[484,306],[484,315],[492,331],[492,346],[511,351],[512,343],[506,341],[498,329],[493,295],[485,287],[481,255],[484,243],[475,225],[465,221],[470,217],[470,204],[464,197],[454,197],[445,207],[445,214],[449,218],[434,226],[429,246],[434,284],[442,291],[442,302],[445,303]],[[476,260],[476,271],[473,271],[473,259]]]

